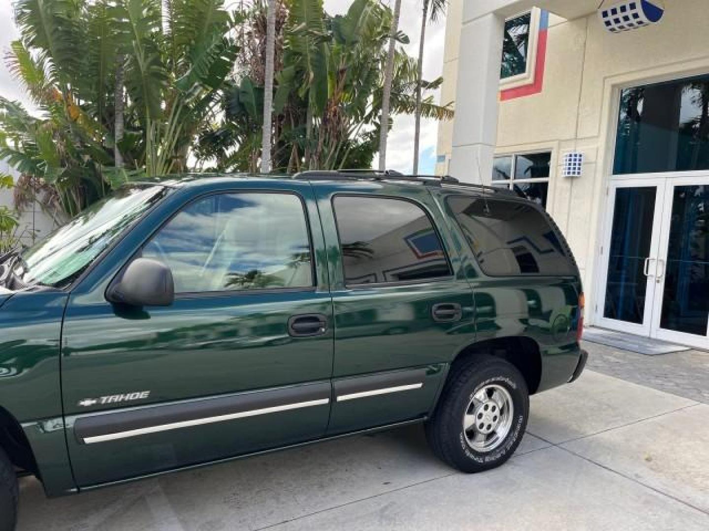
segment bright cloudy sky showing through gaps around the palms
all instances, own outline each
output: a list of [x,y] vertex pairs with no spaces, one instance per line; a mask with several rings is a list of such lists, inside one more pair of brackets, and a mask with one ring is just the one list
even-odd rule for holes
[[[325,0],[325,10],[330,14],[344,13],[350,4],[352,4],[352,0]],[[415,56],[418,54],[421,0],[402,0],[402,4],[399,27],[411,39],[411,43],[406,46],[407,52],[409,55]],[[427,32],[423,76],[425,79],[434,79],[441,75],[443,67],[445,20],[441,19],[435,24],[430,24]],[[0,50],[3,56],[14,38],[17,38],[17,30],[14,28],[12,21],[11,0],[0,0]],[[4,62],[0,64],[0,94],[11,100],[26,102],[26,97],[21,87],[14,81]],[[31,109],[31,106],[28,105],[28,108]],[[436,122],[434,120],[423,120],[421,123],[420,173],[433,173],[436,134]],[[412,149],[413,116],[397,116],[394,119],[393,130],[389,135],[389,149],[386,157],[387,166],[398,171],[411,171],[413,166]],[[376,160],[374,164],[376,165]]]

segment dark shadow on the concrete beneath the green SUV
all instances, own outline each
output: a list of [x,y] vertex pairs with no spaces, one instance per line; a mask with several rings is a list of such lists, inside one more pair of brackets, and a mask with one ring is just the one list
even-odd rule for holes
[[422,425],[403,426],[79,496],[48,499],[25,478],[18,531],[252,529],[455,473]]

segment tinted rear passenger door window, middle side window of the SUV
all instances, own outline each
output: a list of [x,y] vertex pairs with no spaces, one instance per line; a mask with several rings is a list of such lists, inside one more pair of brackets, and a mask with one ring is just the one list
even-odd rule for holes
[[347,285],[427,280],[452,275],[425,212],[389,198],[335,198]]

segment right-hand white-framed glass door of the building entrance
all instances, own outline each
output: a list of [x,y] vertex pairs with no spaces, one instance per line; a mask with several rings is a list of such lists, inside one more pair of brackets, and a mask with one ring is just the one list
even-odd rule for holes
[[709,173],[666,179],[652,336],[709,349]]

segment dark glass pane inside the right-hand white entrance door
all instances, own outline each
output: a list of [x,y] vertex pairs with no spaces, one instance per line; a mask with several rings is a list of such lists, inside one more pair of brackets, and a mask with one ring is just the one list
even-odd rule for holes
[[674,189],[660,326],[706,336],[709,319],[709,185]]

